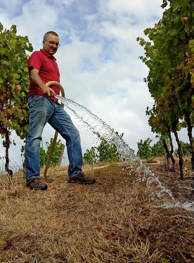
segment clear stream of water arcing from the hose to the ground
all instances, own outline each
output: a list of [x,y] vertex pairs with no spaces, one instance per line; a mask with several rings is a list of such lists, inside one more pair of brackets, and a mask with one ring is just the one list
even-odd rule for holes
[[104,138],[110,144],[114,144],[118,150],[121,160],[129,164],[129,167],[137,173],[138,180],[145,181],[146,185],[152,188],[159,198],[165,196],[166,194],[169,195],[171,204],[165,204],[166,208],[168,205],[169,207],[173,205],[177,207],[181,206],[187,210],[194,211],[194,202],[186,202],[184,204],[177,202],[172,196],[171,191],[162,186],[158,178],[154,177],[154,174],[149,170],[149,168],[146,167],[145,164],[142,163],[142,160],[135,155],[135,151],[131,149],[123,139],[120,139],[119,135],[117,135],[109,125],[71,99],[67,99],[59,95],[55,95],[55,98],[64,103],[66,107],[72,110],[80,119],[82,119],[83,122],[98,133],[101,138]]

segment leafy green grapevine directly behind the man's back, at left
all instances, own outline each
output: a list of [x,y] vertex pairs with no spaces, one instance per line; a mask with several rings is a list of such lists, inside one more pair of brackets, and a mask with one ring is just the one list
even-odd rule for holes
[[[5,170],[9,173],[8,149],[12,130],[24,139],[28,131],[28,37],[16,35],[16,25],[3,30],[0,23],[0,134],[5,147]],[[15,142],[13,141],[15,145]]]

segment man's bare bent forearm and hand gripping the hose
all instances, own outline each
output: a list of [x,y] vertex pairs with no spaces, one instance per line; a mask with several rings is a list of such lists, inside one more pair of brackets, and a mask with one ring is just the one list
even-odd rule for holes
[[30,70],[30,77],[31,77],[32,81],[36,85],[38,85],[38,87],[40,87],[42,89],[42,93],[45,94],[46,96],[50,97],[51,92],[53,93],[53,95],[55,95],[54,90],[45,85],[45,83],[42,81],[42,79],[38,75],[38,72],[39,72],[38,69],[33,68]]

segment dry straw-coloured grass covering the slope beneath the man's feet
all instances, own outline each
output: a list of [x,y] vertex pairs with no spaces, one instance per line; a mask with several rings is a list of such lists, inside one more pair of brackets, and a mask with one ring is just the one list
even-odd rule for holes
[[48,171],[47,191],[26,188],[22,172],[11,188],[1,177],[0,262],[194,262],[191,214],[154,207],[128,168],[90,168],[92,186],[63,170]]

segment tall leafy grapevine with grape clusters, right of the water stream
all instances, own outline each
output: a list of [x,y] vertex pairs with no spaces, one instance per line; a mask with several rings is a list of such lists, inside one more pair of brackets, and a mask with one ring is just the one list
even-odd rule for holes
[[[193,0],[163,0],[165,8],[162,19],[153,28],[146,28],[150,41],[137,38],[144,47],[142,62],[149,68],[144,79],[154,99],[153,108],[147,109],[152,131],[162,137],[169,131],[178,144],[180,177],[183,179],[183,159],[178,131],[187,125],[192,149],[194,169],[194,140],[192,123],[194,118],[194,9]],[[169,137],[170,139],[170,137]]]

